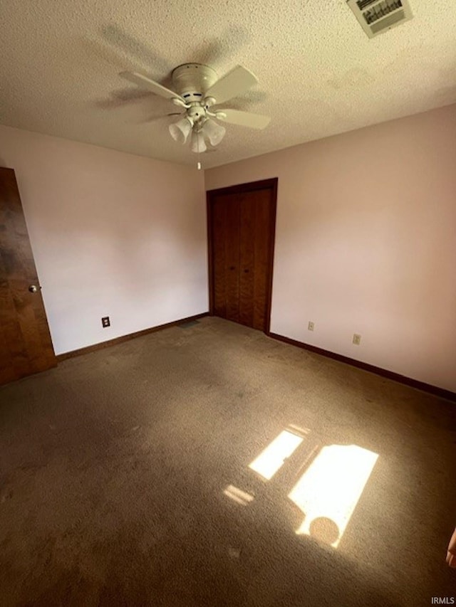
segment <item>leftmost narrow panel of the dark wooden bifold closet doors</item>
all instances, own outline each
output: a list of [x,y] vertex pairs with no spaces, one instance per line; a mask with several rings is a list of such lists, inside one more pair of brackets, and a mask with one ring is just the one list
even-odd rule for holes
[[225,260],[225,232],[227,226],[226,205],[224,197],[217,196],[212,203],[212,272],[214,314],[225,318],[227,316],[227,283]]

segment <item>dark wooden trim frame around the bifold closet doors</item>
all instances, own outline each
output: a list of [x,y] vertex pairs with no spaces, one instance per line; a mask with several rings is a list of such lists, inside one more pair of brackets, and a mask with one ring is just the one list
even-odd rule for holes
[[209,266],[209,315],[214,316],[214,246],[212,234],[212,204],[217,196],[223,194],[246,194],[254,190],[271,190],[271,221],[269,223],[269,267],[266,290],[266,324],[264,333],[270,334],[271,327],[271,302],[272,302],[272,278],[274,270],[274,245],[276,241],[276,209],[277,209],[277,184],[279,179],[262,179],[252,181],[248,184],[238,184],[226,188],[209,190],[206,193],[207,200],[207,259]]

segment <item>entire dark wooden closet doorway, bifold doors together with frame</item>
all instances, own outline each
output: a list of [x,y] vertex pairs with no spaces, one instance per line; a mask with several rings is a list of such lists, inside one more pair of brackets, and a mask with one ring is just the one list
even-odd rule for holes
[[207,194],[212,314],[269,332],[277,180]]

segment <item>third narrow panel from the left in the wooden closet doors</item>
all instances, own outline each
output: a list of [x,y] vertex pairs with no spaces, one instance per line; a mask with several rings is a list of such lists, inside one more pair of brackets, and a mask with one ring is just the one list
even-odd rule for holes
[[240,194],[239,322],[254,326],[255,192]]

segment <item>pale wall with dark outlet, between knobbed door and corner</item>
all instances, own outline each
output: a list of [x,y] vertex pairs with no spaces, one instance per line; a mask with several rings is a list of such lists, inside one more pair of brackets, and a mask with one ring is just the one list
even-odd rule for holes
[[56,354],[207,311],[201,171],[2,126],[0,166],[16,171]]

